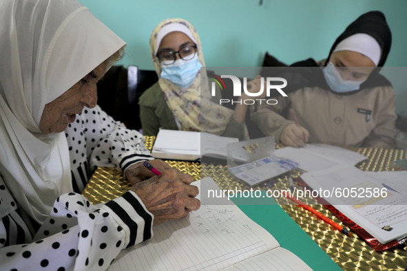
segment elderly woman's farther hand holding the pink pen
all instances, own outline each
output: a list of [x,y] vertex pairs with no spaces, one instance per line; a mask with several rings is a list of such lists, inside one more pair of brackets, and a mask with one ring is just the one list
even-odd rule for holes
[[[167,164],[163,160],[159,160],[159,159],[151,160],[151,161],[149,161],[149,164],[154,166],[154,168],[156,170],[160,171],[160,173],[163,173],[164,171],[172,169],[171,166],[169,166],[169,164]],[[145,166],[143,166],[143,162],[139,162],[137,164],[129,166],[125,170],[125,175],[126,175],[126,179],[132,185],[137,184],[139,182],[143,182],[144,180],[147,180],[147,179],[155,176],[154,173],[152,173],[152,171],[150,171]]]

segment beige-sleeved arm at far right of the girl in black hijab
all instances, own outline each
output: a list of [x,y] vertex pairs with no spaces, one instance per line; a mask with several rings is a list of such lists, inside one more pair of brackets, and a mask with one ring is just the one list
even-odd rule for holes
[[384,87],[377,98],[375,110],[376,126],[364,140],[364,147],[390,148],[396,147],[395,123],[397,120],[395,109],[395,91],[393,87]]

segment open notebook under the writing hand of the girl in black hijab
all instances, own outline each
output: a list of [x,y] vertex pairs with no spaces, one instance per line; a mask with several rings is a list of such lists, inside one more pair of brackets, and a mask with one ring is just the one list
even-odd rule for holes
[[306,147],[284,147],[275,150],[275,155],[298,162],[303,171],[320,171],[339,164],[355,166],[366,160],[366,156],[327,144],[306,144]]

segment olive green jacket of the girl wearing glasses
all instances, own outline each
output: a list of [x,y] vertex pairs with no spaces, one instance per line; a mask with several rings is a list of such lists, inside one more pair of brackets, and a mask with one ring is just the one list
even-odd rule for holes
[[[216,91],[216,96],[212,100],[217,101],[220,98],[222,98],[220,91]],[[143,135],[157,135],[160,128],[178,130],[174,115],[165,101],[164,93],[158,82],[144,91],[138,100],[138,105],[140,105],[140,121]],[[242,139],[244,128],[244,122],[238,123],[231,118],[222,135]]]

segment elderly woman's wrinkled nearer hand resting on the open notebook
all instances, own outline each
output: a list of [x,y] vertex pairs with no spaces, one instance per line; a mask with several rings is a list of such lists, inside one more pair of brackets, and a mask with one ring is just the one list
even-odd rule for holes
[[198,210],[200,200],[196,199],[198,187],[190,185],[193,178],[177,169],[163,171],[144,182],[132,186],[150,213],[154,215],[153,225],[168,220],[186,217],[191,210]]

